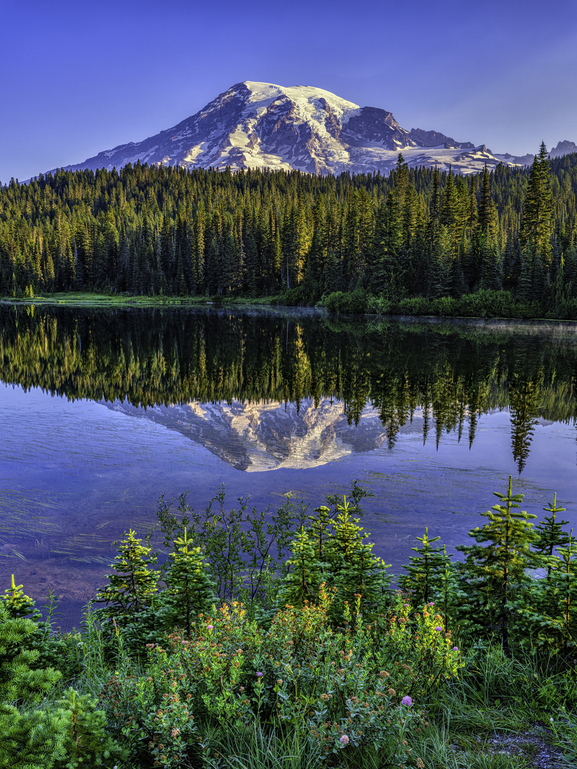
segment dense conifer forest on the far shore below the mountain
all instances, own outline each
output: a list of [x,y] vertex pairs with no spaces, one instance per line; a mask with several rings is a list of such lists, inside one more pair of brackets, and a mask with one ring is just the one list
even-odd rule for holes
[[0,188],[0,290],[577,297],[577,154],[469,177],[127,165]]

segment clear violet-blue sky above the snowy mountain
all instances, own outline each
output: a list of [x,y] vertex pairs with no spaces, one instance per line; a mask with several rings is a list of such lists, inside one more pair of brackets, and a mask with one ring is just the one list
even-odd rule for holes
[[577,141],[577,0],[0,0],[0,180],[139,141],[242,80],[524,155]]

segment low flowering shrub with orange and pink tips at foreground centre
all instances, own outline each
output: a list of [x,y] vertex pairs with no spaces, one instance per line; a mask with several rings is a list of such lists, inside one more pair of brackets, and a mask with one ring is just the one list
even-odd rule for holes
[[122,747],[132,760],[147,754],[172,767],[206,747],[209,724],[238,734],[256,726],[298,732],[327,756],[370,745],[381,761],[405,764],[402,741],[462,667],[459,652],[440,615],[425,606],[411,618],[401,593],[395,611],[366,625],[359,596],[340,629],[329,618],[333,597],[322,585],[317,604],[287,605],[268,630],[242,604],[223,604],[192,636],[149,644],[141,675],[115,674],[105,687]]

